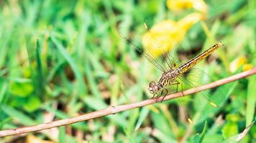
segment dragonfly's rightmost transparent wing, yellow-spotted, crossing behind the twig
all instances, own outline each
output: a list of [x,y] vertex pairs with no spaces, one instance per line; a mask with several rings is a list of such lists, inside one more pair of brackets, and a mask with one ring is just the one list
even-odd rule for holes
[[[191,70],[187,71],[183,75],[178,77],[178,80],[180,82],[184,83],[186,85],[186,89],[190,88],[198,88],[202,84],[207,83],[214,83],[214,79],[212,79],[208,74],[206,74],[205,71],[198,69],[198,68],[192,68]],[[214,88],[209,89],[202,92],[197,92],[197,96],[194,97],[193,103],[196,107],[196,110],[201,112],[203,114],[204,110],[207,109],[207,113],[204,112],[204,118],[208,118],[211,115],[214,115],[216,111],[221,109],[221,107],[224,104],[224,101],[226,101],[226,96],[224,95],[224,92],[222,92],[221,88]],[[206,116],[208,114],[208,116]],[[200,119],[201,122],[203,121]]]

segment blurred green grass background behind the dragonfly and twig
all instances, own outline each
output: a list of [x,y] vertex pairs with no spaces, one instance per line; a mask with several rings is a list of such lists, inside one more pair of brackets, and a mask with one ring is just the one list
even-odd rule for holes
[[[224,48],[197,66],[214,80],[256,64],[256,1],[170,3],[0,1],[0,129],[149,99],[147,86],[161,72],[119,36],[119,26],[137,36],[132,31],[142,31],[144,22],[154,26],[196,12],[204,19],[172,47],[179,56],[191,59],[223,41]],[[193,124],[172,100],[0,142],[234,142],[255,119],[255,85],[252,76],[220,87],[227,98],[219,109],[198,107],[200,96],[185,103]],[[255,141],[255,130],[242,142]]]

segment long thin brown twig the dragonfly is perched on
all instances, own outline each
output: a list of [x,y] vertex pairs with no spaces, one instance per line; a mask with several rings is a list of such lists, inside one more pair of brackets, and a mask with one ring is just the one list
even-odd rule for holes
[[[253,69],[250,69],[249,71],[244,71],[240,74],[236,74],[234,76],[231,77],[227,77],[225,79],[221,79],[219,81],[216,82],[212,82],[210,84],[205,84],[201,87],[197,87],[196,89],[188,89],[184,92],[177,92],[175,94],[168,94],[168,96],[165,97],[165,99],[163,99],[163,101],[166,100],[170,100],[170,99],[175,99],[178,97],[182,97],[183,94],[184,95],[188,95],[188,94],[193,94],[196,92],[201,92],[203,90],[206,89],[211,89],[214,87],[218,87],[220,85],[223,84],[227,84],[229,82],[233,82],[235,80],[238,79],[242,79],[244,77],[248,77],[252,74],[256,74],[256,67]],[[64,126],[67,124],[73,124],[76,122],[83,122],[86,121],[88,119],[95,119],[98,117],[104,117],[106,115],[109,114],[116,114],[119,112],[123,112],[123,111],[127,111],[129,109],[134,109],[134,108],[139,108],[139,107],[145,107],[149,104],[155,104],[157,102],[161,102],[163,97],[160,97],[159,99],[147,99],[144,100],[142,102],[137,102],[137,103],[132,103],[132,104],[124,104],[124,105],[119,105],[116,107],[107,107],[106,109],[101,109],[95,112],[91,112],[91,113],[87,113],[87,114],[82,114],[78,117],[71,117],[68,119],[60,119],[54,122],[48,122],[48,123],[43,123],[43,124],[37,124],[35,126],[29,126],[29,127],[21,127],[21,128],[17,128],[17,129],[6,129],[6,130],[2,130],[0,131],[0,137],[5,137],[5,136],[10,136],[10,135],[15,135],[15,134],[24,134],[24,133],[28,133],[28,132],[36,132],[36,131],[40,131],[43,129],[50,129],[53,127],[60,127],[60,126]]]

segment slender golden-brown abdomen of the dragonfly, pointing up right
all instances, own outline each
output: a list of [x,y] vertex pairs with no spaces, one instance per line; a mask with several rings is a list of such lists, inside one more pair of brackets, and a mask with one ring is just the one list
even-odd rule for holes
[[181,73],[188,71],[188,69],[191,69],[191,67],[195,66],[198,62],[200,62],[201,60],[203,60],[204,58],[209,56],[212,52],[214,52],[216,49],[218,49],[219,46],[221,46],[221,45],[222,45],[221,42],[216,43],[214,46],[211,46],[211,48],[204,51],[204,53],[199,54],[198,56],[196,56],[193,59],[186,62],[186,64],[183,64],[182,66],[178,67],[178,70]]

